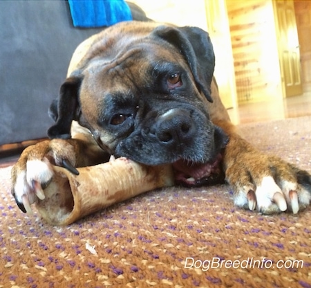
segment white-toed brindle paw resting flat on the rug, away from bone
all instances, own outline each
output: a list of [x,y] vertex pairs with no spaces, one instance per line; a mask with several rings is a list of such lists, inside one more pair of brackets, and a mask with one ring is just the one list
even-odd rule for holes
[[226,179],[236,206],[264,214],[298,213],[311,199],[311,176],[290,163],[268,156],[250,145],[227,163]]

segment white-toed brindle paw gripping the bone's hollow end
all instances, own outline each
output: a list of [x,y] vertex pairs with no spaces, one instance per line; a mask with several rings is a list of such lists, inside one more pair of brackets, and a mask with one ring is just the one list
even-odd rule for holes
[[53,179],[52,165],[77,174],[75,151],[66,140],[53,139],[27,147],[12,167],[12,195],[24,213],[32,213],[31,204],[44,199],[44,188]]

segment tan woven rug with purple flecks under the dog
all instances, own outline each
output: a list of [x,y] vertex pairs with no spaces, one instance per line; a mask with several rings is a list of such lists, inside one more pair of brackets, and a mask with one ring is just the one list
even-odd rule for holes
[[[241,125],[311,172],[311,118]],[[311,287],[311,209],[264,216],[229,186],[147,192],[66,227],[21,213],[0,169],[0,287]]]

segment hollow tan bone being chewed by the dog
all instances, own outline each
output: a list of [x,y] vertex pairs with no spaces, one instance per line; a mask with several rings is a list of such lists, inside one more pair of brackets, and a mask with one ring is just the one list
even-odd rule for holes
[[41,217],[53,225],[68,225],[142,192],[173,185],[170,165],[146,166],[124,157],[77,168],[75,175],[53,166],[55,175],[36,202]]

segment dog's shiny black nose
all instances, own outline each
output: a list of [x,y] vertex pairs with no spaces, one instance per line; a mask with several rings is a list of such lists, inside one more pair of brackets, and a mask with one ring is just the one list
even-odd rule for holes
[[179,145],[189,143],[194,136],[194,122],[189,111],[170,109],[164,112],[153,126],[153,134],[162,143]]

